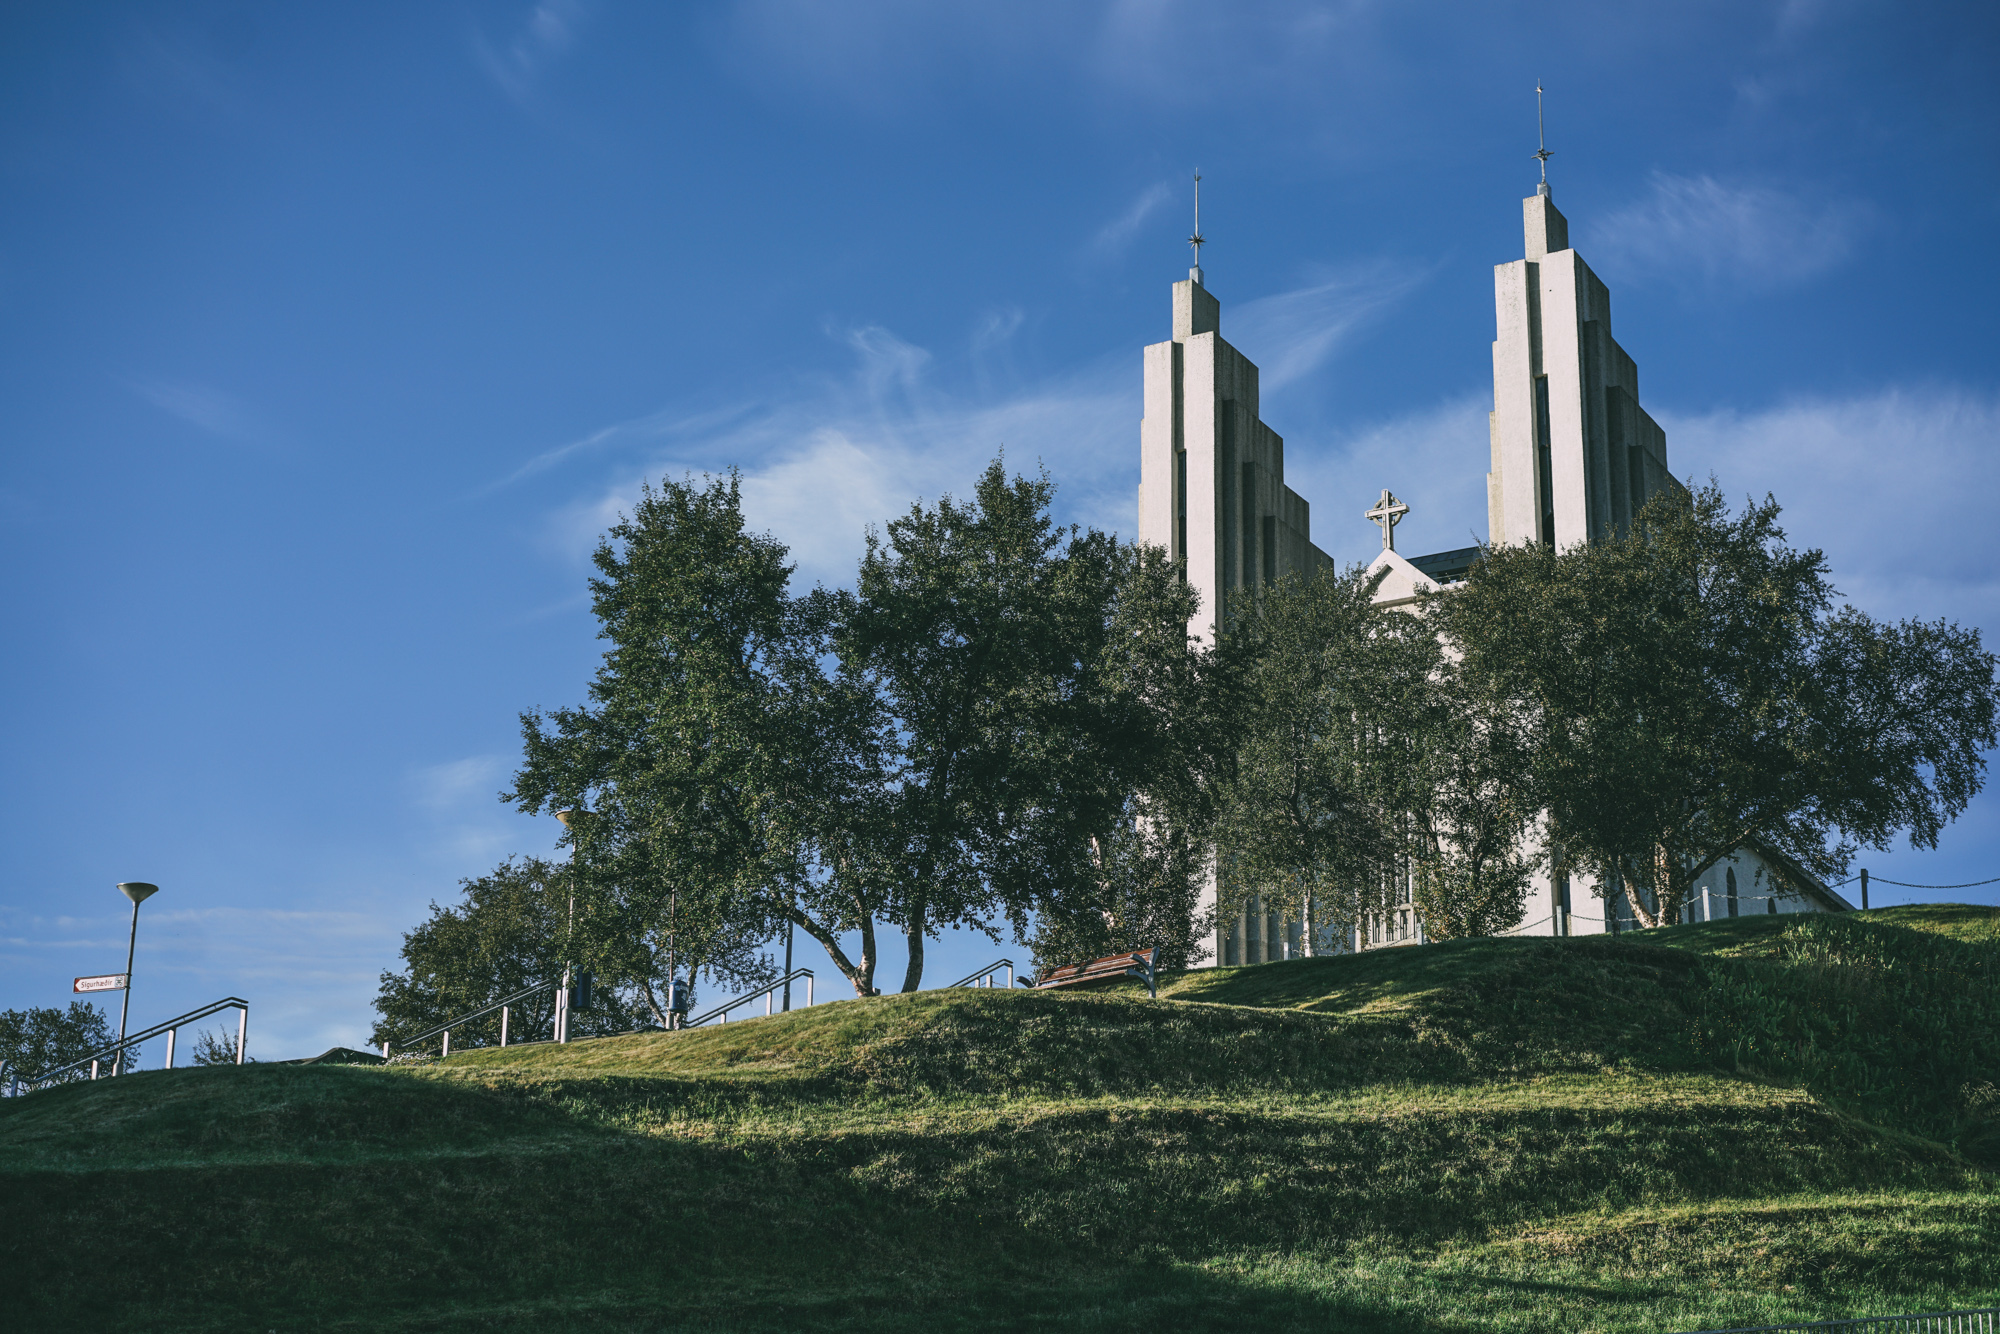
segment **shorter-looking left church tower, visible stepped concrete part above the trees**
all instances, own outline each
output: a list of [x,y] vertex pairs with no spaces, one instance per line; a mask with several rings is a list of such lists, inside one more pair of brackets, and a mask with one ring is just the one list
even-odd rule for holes
[[[1200,228],[1196,228],[1196,236]],[[1138,540],[1188,562],[1210,640],[1230,590],[1330,568],[1306,500],[1284,484],[1284,440],[1258,420],[1258,372],[1222,340],[1222,306],[1190,268],[1174,284],[1174,336],[1146,348]]]

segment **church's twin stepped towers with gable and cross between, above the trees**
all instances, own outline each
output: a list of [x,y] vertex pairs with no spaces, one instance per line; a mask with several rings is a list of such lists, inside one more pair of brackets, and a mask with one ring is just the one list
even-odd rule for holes
[[[1524,258],[1494,268],[1488,542],[1574,546],[1606,526],[1622,532],[1648,496],[1672,486],[1666,432],[1638,404],[1638,368],[1612,338],[1610,292],[1570,250],[1548,184],[1522,200],[1522,222]],[[1352,502],[1366,508],[1364,496],[1342,500]],[[1384,534],[1394,518],[1382,518]],[[1284,438],[1258,416],[1256,364],[1224,342],[1200,268],[1174,284],[1174,336],[1146,348],[1138,538],[1186,560],[1202,594],[1190,630],[1204,638],[1228,590],[1332,566],[1312,544],[1310,506],[1284,484]],[[1384,550],[1394,568],[1382,596],[1452,582],[1476,554]]]

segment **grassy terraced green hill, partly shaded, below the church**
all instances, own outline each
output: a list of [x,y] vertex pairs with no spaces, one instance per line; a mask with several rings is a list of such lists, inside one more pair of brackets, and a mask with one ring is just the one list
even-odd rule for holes
[[0,1102],[12,1328],[1696,1330],[2000,1300],[2000,910]]

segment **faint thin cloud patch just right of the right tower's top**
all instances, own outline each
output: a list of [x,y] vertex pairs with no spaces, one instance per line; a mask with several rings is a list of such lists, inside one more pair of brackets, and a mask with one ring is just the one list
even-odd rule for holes
[[1654,172],[1646,198],[1594,222],[1586,244],[1632,280],[1778,288],[1844,264],[1866,226],[1862,204]]

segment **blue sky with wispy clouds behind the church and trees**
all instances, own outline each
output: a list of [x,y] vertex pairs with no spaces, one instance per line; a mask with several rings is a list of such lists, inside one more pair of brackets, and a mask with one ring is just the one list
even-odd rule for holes
[[[1000,448],[1130,534],[1196,168],[1318,544],[1382,486],[1484,536],[1536,78],[1674,470],[2000,634],[1990,4],[6,6],[0,1006],[118,970],[142,878],[136,1018],[360,1042],[552,850],[496,792],[642,478],[742,468],[802,582]],[[2000,796],[1864,862],[2000,876]]]

